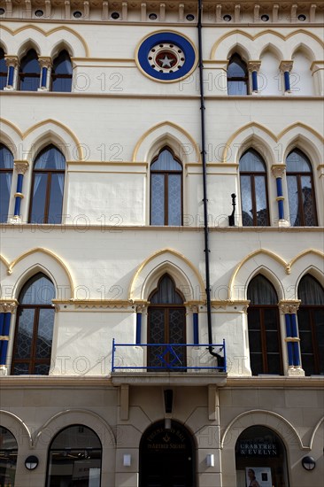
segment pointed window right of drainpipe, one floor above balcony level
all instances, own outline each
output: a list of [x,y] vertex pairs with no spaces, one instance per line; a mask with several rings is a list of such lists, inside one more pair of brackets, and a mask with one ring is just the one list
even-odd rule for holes
[[254,149],[249,149],[240,158],[239,170],[243,226],[268,226],[269,210],[264,158]]

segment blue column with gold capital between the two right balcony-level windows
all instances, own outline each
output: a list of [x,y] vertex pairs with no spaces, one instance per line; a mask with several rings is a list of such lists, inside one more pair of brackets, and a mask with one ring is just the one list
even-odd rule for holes
[[299,337],[297,332],[297,310],[300,299],[280,301],[279,309],[285,317],[287,354],[288,354],[288,375],[305,375],[300,364]]

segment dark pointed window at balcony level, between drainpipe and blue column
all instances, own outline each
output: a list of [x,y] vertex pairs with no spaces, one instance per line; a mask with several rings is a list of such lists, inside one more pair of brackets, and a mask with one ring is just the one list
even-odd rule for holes
[[278,297],[262,274],[256,275],[247,292],[249,346],[252,375],[282,375],[282,344]]

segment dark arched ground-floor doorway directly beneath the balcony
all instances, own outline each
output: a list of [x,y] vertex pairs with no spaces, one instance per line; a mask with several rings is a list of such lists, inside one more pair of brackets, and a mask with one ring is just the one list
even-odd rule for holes
[[195,487],[196,456],[193,438],[181,423],[155,422],[140,443],[140,487]]

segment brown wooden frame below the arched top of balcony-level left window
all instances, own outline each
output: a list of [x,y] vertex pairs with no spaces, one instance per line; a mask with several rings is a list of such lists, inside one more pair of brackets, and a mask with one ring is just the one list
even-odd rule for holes
[[[29,359],[15,359],[15,352],[17,349],[18,335],[19,335],[19,318],[20,318],[20,312],[23,309],[35,309],[31,353],[30,353]],[[35,357],[36,346],[37,346],[38,327],[39,327],[39,315],[40,315],[40,310],[42,310],[42,309],[51,309],[52,310],[53,306],[52,305],[19,305],[17,308],[16,330],[15,330],[15,337],[14,337],[13,350],[12,350],[12,375],[14,374],[14,367],[16,364],[29,364],[28,374],[35,374],[35,366],[36,365],[49,365],[50,366],[50,358],[49,359],[37,359]]]

